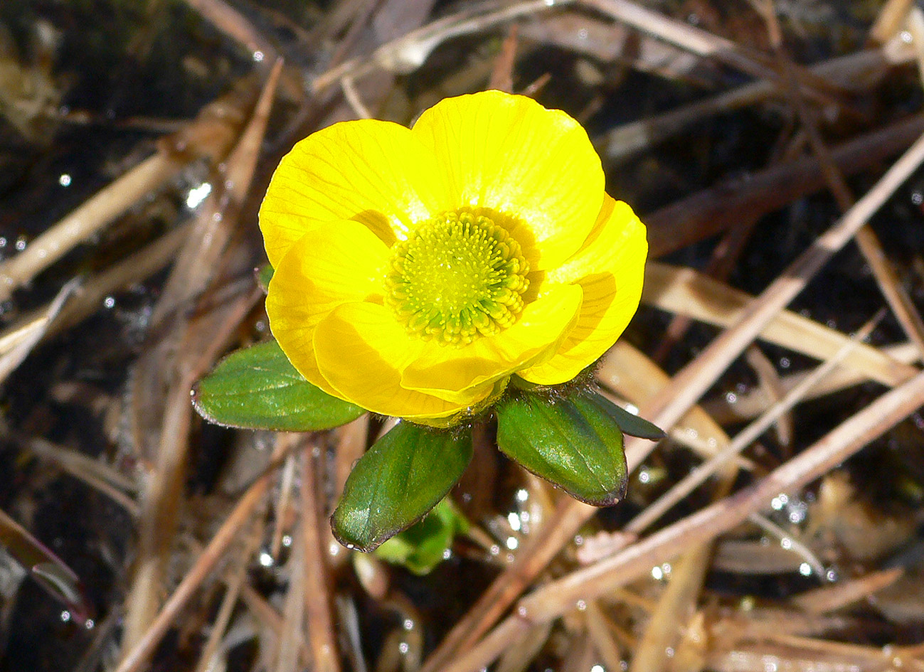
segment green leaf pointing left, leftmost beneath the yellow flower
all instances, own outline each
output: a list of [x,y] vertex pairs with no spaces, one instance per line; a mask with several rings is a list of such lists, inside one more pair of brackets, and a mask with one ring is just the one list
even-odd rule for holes
[[311,432],[359,418],[359,406],[311,385],[275,341],[233,352],[202,378],[193,405],[226,427]]

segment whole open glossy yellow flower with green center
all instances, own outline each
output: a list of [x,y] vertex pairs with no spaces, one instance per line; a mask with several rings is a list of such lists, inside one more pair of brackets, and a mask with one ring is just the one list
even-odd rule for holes
[[492,403],[514,373],[565,383],[641,293],[645,227],[603,189],[584,129],[523,96],[324,128],[261,206],[270,328],[310,383],[424,424]]

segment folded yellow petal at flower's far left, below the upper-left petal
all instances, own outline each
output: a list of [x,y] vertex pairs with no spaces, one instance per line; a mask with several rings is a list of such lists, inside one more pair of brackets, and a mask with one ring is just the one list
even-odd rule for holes
[[318,370],[314,330],[343,303],[381,301],[388,248],[366,226],[326,223],[303,235],[277,262],[266,295],[270,330],[292,365],[329,394]]

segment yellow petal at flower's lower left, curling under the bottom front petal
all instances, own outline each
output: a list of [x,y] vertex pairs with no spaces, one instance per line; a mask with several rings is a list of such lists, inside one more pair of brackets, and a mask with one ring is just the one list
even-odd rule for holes
[[443,418],[465,409],[468,404],[401,386],[401,369],[414,360],[420,344],[407,336],[391,311],[373,303],[340,306],[314,333],[318,366],[337,397],[376,413],[411,420]]

